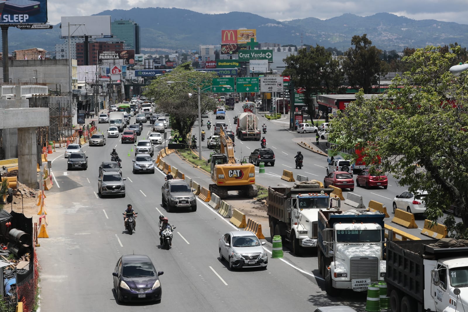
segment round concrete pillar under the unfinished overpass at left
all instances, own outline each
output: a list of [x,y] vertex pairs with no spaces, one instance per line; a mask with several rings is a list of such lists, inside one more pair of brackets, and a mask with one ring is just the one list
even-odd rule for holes
[[37,188],[36,127],[18,128],[18,181]]

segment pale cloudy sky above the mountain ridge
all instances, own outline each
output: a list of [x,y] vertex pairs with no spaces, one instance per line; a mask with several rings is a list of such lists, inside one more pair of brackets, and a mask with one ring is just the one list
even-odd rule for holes
[[250,12],[279,21],[305,17],[329,19],[344,13],[360,16],[387,12],[416,20],[435,19],[468,24],[468,0],[48,0],[49,23],[60,16],[93,15],[132,7],[177,7],[208,14]]

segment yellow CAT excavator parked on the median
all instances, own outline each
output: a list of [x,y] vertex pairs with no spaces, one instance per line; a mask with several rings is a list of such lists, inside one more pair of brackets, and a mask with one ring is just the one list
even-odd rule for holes
[[211,179],[214,182],[209,186],[210,192],[220,199],[226,199],[228,191],[239,191],[248,198],[257,196],[255,166],[247,162],[236,163],[233,141],[222,126],[219,130],[219,152],[210,156]]

